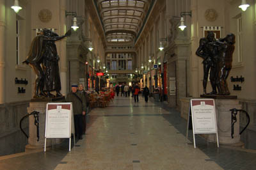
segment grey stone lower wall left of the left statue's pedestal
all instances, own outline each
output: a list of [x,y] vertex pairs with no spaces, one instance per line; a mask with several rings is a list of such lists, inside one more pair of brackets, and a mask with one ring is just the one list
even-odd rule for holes
[[[19,123],[27,114],[28,105],[29,101],[0,105],[0,156],[25,150],[28,139],[20,131]],[[28,134],[28,118],[22,122],[22,128]]]

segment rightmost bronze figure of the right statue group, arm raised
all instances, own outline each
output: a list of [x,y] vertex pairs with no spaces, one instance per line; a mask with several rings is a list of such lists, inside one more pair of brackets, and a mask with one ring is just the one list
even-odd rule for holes
[[218,65],[217,65],[217,87],[219,95],[230,95],[228,90],[227,78],[232,68],[233,52],[235,50],[236,36],[228,34],[225,38],[216,42],[218,46]]

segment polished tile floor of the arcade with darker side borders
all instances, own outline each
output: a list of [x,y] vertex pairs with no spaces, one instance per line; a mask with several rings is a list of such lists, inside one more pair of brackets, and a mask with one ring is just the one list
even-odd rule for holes
[[[35,153],[0,157],[0,169],[256,169],[256,151],[207,143],[186,144],[186,121],[179,112],[150,98],[116,97],[106,108],[93,109],[82,140]],[[189,135],[191,141],[191,135]]]

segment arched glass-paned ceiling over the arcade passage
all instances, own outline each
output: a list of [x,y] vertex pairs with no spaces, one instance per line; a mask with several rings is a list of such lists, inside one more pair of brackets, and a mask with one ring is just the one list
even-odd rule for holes
[[97,0],[108,42],[132,42],[138,35],[152,0]]

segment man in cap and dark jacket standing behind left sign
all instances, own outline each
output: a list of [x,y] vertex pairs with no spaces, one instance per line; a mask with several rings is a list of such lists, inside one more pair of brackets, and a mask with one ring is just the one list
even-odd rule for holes
[[72,91],[68,93],[66,102],[72,102],[75,132],[78,139],[83,139],[83,115],[86,111],[86,101],[83,93],[77,91],[77,84],[72,85]]

